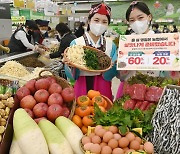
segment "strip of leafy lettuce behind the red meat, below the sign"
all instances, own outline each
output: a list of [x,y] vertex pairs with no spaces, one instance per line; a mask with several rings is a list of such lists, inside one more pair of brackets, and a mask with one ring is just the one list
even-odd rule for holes
[[164,77],[153,77],[147,74],[142,74],[137,72],[135,76],[132,76],[127,81],[129,84],[145,84],[148,87],[157,86],[164,88],[168,84],[177,85],[178,81],[173,79],[168,79]]

